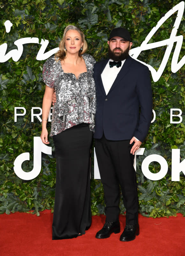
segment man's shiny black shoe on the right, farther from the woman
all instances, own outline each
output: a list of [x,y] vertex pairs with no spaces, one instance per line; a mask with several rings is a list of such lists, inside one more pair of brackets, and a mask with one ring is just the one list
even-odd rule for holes
[[128,242],[132,241],[139,235],[139,224],[126,225],[122,235],[120,236],[120,241]]

